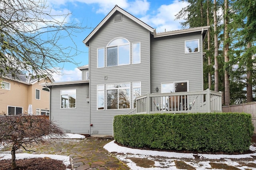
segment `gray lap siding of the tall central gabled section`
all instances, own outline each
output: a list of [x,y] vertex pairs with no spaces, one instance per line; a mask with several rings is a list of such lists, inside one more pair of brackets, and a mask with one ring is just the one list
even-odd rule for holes
[[[106,45],[116,37],[130,41],[130,64],[106,67]],[[140,42],[141,63],[132,64],[132,43]],[[97,68],[97,48],[105,49],[105,67]],[[90,41],[90,121],[91,135],[112,135],[112,119],[130,109],[106,109],[106,84],[131,83],[130,98],[132,108],[132,82],[141,82],[141,93],[150,91],[150,32],[122,16],[122,21],[114,22],[114,15],[94,35]],[[104,77],[107,77],[107,80]],[[97,85],[104,84],[105,108],[97,110]]]

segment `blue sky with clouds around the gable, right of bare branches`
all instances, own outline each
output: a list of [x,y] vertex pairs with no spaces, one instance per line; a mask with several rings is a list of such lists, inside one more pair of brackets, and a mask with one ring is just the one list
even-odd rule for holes
[[[82,41],[90,34],[94,27],[118,5],[136,18],[144,21],[156,32],[173,31],[181,29],[180,21],[174,20],[175,15],[188,4],[179,2],[178,0],[48,0],[48,6],[51,8],[52,14],[72,13],[67,21],[82,23],[82,27],[88,27],[82,33],[73,33],[73,41],[77,45],[77,49],[82,53],[73,59],[78,66],[88,64],[88,47]],[[73,46],[73,42],[63,41],[64,45]],[[77,69],[77,65],[65,63],[60,76],[54,74],[56,82],[81,80],[81,72]]]

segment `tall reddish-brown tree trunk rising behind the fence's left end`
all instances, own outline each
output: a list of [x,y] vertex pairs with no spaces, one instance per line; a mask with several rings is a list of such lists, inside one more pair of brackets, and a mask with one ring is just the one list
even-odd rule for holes
[[228,31],[228,0],[224,0],[224,80],[225,80],[225,105],[230,104],[230,84],[228,75],[228,50],[229,50],[229,31]]

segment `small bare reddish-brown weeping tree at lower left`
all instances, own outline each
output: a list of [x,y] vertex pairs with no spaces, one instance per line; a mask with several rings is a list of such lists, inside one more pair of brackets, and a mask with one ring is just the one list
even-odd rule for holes
[[38,116],[1,116],[0,117],[0,143],[11,144],[12,169],[17,167],[15,152],[20,147],[25,150],[34,142],[44,142],[45,136],[63,137],[60,127],[52,121]]

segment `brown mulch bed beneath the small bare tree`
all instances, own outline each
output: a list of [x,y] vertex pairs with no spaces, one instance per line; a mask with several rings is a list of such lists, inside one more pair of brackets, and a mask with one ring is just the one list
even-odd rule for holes
[[[11,160],[0,160],[0,170],[11,170]],[[61,160],[31,158],[16,160],[17,168],[15,170],[66,170],[71,169],[71,166],[66,166]]]

